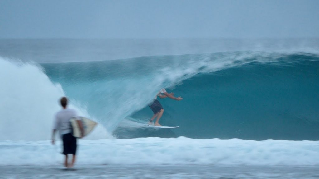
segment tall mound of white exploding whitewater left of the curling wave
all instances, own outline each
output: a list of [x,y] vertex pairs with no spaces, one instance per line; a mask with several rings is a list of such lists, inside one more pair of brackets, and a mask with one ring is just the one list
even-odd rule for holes
[[[53,84],[40,67],[13,63],[0,57],[0,140],[48,140],[58,100],[64,96],[60,84]],[[74,103],[75,104],[75,103]],[[85,109],[70,104],[79,115]],[[91,139],[110,136],[99,126]]]

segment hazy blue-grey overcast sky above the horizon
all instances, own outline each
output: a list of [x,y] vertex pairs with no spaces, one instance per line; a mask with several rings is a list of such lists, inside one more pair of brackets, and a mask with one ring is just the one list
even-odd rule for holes
[[319,0],[0,0],[0,38],[319,37]]

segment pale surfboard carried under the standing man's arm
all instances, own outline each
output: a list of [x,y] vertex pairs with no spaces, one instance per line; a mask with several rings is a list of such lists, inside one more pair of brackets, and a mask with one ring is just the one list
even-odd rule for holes
[[76,138],[80,138],[81,137],[81,131],[80,131],[80,127],[78,126],[78,122],[76,121],[77,119],[80,119],[82,121],[82,125],[84,128],[84,137],[89,134],[94,127],[98,124],[97,122],[85,118],[85,117],[78,117],[78,118],[72,118],[71,119],[71,125],[72,125],[72,129],[73,129],[73,136]]

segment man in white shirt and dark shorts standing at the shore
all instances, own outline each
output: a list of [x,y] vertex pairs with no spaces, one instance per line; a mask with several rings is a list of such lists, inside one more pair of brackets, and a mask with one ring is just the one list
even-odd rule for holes
[[[52,132],[52,144],[55,144],[55,133],[59,130],[59,134],[62,135],[63,140],[63,154],[65,155],[64,166],[73,167],[75,162],[76,150],[77,150],[77,139],[72,135],[72,128],[70,119],[73,117],[78,117],[77,112],[73,109],[67,109],[68,99],[62,97],[60,99],[60,104],[62,110],[58,111],[55,115],[54,127]],[[81,120],[77,120],[81,131],[81,138],[84,136],[84,130]],[[68,154],[72,154],[72,161],[68,165]]]

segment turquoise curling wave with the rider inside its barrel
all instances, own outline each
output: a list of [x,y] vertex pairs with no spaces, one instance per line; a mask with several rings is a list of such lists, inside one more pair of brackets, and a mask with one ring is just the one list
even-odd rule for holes
[[[117,138],[318,140],[319,58],[310,53],[222,52],[41,64],[65,94]],[[147,122],[161,88],[162,125]],[[125,120],[123,120],[125,119]]]

